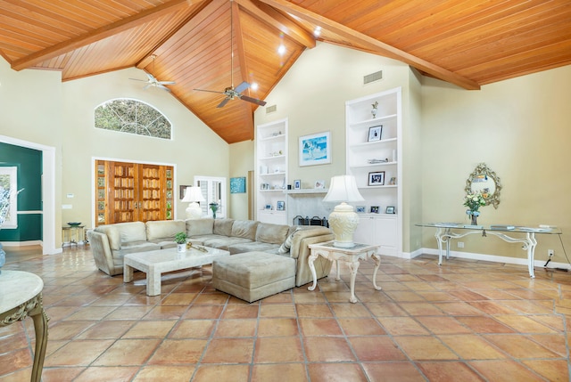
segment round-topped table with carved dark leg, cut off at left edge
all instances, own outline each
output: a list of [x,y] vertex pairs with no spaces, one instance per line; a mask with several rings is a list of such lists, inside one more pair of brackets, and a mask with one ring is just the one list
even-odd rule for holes
[[32,367],[32,382],[39,382],[44,369],[47,345],[47,314],[42,303],[44,281],[34,273],[0,272],[0,327],[31,317],[36,331],[36,351]]

